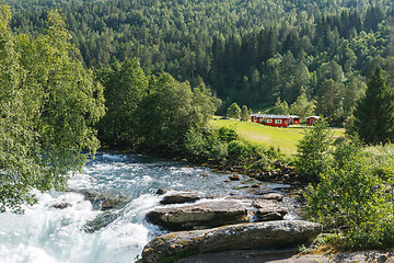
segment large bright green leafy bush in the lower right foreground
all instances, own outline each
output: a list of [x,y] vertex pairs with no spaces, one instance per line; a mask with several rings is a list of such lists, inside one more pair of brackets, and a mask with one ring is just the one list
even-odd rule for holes
[[[334,164],[320,184],[305,194],[309,216],[329,230],[344,232],[340,240],[350,249],[389,248],[394,244],[392,174],[375,173],[376,163],[354,138],[334,153]],[[393,169],[393,162],[390,163]]]

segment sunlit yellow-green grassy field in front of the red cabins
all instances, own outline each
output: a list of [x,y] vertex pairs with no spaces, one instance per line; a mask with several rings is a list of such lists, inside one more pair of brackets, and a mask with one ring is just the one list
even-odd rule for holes
[[[252,122],[240,122],[235,119],[220,119],[216,117],[211,121],[215,127],[230,126],[233,127],[239,135],[247,140],[263,144],[265,146],[274,146],[288,157],[297,152],[297,144],[303,137],[303,132],[308,126],[291,125],[288,128],[270,127]],[[344,136],[343,128],[333,128],[335,137]]]

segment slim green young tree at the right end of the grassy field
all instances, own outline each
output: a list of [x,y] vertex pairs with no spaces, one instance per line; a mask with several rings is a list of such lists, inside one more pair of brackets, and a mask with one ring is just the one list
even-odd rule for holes
[[322,172],[329,164],[331,133],[327,122],[321,119],[313,127],[305,129],[298,144],[296,168],[306,182],[318,182]]

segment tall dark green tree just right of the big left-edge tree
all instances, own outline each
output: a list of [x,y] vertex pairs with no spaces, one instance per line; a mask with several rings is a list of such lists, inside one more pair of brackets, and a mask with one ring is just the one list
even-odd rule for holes
[[137,108],[148,94],[149,80],[137,59],[113,65],[100,71],[105,87],[106,115],[99,123],[99,138],[121,147],[138,142]]

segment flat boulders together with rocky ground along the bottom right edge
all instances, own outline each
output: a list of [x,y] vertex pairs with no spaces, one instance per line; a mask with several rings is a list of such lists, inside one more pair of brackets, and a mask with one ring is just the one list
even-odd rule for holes
[[141,263],[394,263],[392,251],[300,253],[322,226],[300,220],[299,204],[278,192],[219,198],[193,191],[158,193],[163,206],[147,219],[170,232],[144,247]]

